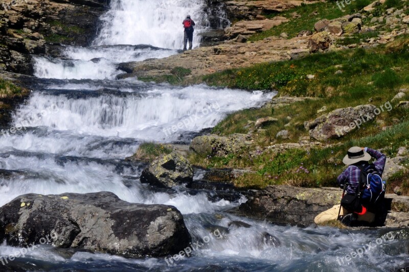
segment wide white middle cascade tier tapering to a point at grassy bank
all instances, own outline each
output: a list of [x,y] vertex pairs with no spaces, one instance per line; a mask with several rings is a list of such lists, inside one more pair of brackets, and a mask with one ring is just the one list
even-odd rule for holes
[[17,110],[14,123],[76,134],[169,141],[183,132],[213,127],[226,113],[260,105],[273,95],[207,86],[79,99],[35,93]]

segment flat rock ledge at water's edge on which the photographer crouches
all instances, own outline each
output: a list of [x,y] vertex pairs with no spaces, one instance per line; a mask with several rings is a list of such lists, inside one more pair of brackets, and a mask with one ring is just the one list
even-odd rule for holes
[[[291,225],[308,226],[314,217],[339,204],[342,190],[338,188],[300,188],[292,186],[269,186],[259,190],[239,207],[239,212],[258,219]],[[387,211],[378,222],[389,228],[409,227],[409,196],[387,194]],[[382,224],[383,223],[383,224]]]

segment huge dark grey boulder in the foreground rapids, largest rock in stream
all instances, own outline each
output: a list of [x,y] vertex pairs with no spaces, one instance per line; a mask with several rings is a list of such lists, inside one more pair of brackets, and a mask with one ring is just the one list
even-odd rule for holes
[[190,235],[173,206],[128,203],[111,192],[32,193],[0,208],[0,240],[145,257],[178,253]]

